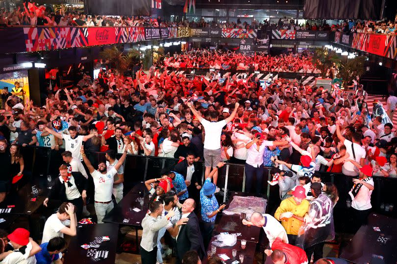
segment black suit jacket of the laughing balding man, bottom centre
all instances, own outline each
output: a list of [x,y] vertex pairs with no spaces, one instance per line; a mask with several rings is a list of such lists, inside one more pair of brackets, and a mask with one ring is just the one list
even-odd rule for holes
[[195,250],[199,254],[200,259],[205,255],[199,218],[197,218],[194,212],[190,213],[188,218],[189,221],[181,226],[178,239],[176,240],[176,257],[179,263],[182,262],[183,255],[189,250]]

